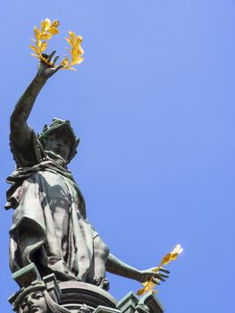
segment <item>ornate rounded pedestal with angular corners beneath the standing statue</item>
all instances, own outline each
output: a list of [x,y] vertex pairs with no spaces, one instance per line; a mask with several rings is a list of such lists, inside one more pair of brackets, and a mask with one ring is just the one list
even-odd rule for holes
[[58,282],[54,274],[42,279],[33,264],[16,272],[13,278],[21,286],[9,299],[17,313],[22,312],[23,302],[28,303],[24,312],[30,312],[30,303],[37,292],[44,297],[47,308],[37,311],[40,313],[164,313],[154,292],[147,292],[141,298],[129,292],[118,302],[110,293],[90,283]]

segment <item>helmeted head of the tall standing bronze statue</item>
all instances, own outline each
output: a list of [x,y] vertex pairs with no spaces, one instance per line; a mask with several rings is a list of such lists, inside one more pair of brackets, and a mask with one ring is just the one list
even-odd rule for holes
[[51,125],[44,126],[38,136],[45,150],[52,151],[69,163],[77,153],[80,140],[76,138],[69,121],[54,118]]

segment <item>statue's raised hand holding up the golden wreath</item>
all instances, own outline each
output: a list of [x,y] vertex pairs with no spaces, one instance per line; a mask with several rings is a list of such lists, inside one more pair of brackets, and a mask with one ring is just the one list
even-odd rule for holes
[[53,66],[50,66],[49,64],[47,64],[43,60],[39,60],[39,62],[38,62],[38,73],[37,73],[38,77],[40,77],[40,78],[42,78],[44,80],[47,80],[52,75],[54,75],[55,72],[59,71],[63,67],[63,65],[58,65],[57,67],[55,67],[55,62],[59,58],[59,55],[56,55],[54,57],[55,52],[56,51],[54,50],[50,55],[43,54],[43,56],[46,58],[46,60],[49,63],[52,63]]

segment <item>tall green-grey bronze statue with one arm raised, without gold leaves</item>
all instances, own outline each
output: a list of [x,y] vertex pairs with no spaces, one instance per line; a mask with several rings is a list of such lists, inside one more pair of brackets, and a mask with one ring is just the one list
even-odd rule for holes
[[[55,63],[55,52],[44,55]],[[86,219],[85,201],[67,165],[79,140],[68,121],[55,119],[39,135],[27,121],[46,80],[62,68],[38,63],[36,77],[11,116],[11,148],[16,170],[7,178],[6,208],[12,207],[10,265],[12,272],[34,262],[41,276],[54,273],[59,281],[78,280],[108,289],[105,271],[138,282],[152,276],[164,281],[169,272],[138,270],[114,257]]]

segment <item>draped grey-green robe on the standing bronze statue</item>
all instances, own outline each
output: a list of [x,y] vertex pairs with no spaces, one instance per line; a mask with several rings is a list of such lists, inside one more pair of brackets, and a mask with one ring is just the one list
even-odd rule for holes
[[60,280],[94,277],[97,232],[86,219],[83,196],[62,157],[45,151],[32,131],[30,154],[11,140],[17,169],[8,178],[5,208],[12,207],[10,267],[34,262],[41,275]]

